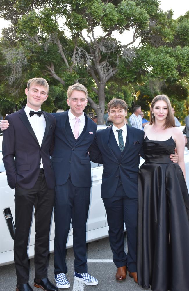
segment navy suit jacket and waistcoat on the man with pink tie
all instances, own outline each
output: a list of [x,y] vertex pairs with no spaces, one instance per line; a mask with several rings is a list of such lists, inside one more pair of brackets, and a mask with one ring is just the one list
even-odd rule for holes
[[68,111],[52,114],[56,118],[52,156],[56,185],[65,184],[70,176],[74,186],[91,187],[88,148],[95,138],[97,124],[84,113],[85,127],[76,140],[69,123]]

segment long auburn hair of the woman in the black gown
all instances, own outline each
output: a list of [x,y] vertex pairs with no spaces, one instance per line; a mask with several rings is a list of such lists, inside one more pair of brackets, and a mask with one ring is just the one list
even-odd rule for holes
[[154,108],[154,105],[157,101],[159,100],[163,100],[167,103],[167,108],[168,108],[168,114],[165,120],[165,125],[164,125],[164,129],[168,128],[168,127],[176,127],[175,125],[175,120],[174,120],[174,115],[172,112],[172,107],[171,107],[171,102],[169,100],[169,98],[167,97],[167,95],[157,95],[156,97],[154,97],[154,99],[151,102],[151,106],[150,106],[150,125],[152,125],[154,123],[155,120],[155,116],[152,118],[152,109]]

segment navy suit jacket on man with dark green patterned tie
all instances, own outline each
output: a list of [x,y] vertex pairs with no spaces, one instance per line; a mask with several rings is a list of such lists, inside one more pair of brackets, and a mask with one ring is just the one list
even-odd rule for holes
[[115,140],[115,147],[120,151],[119,157],[115,155],[115,150],[110,147],[111,132],[112,127],[98,131],[95,141],[89,148],[90,159],[104,166],[101,197],[113,197],[120,179],[126,195],[130,198],[138,198],[139,153],[143,156],[141,147],[144,140],[144,132],[127,126],[126,146],[122,153]]

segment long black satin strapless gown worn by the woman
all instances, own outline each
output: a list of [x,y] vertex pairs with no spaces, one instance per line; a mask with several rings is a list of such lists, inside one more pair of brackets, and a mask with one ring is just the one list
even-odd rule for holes
[[189,291],[189,196],[175,146],[146,137],[138,175],[138,284],[154,291]]

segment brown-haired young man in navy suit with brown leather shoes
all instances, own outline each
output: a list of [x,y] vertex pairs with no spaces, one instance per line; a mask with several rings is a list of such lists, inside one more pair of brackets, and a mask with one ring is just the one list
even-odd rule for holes
[[[89,148],[90,159],[104,166],[101,197],[106,208],[113,261],[117,266],[116,279],[126,279],[128,268],[129,276],[137,283],[138,166],[140,155],[143,156],[144,132],[126,125],[127,105],[122,99],[108,103],[108,115],[113,125],[97,132]],[[124,251],[124,222],[127,254]]]

